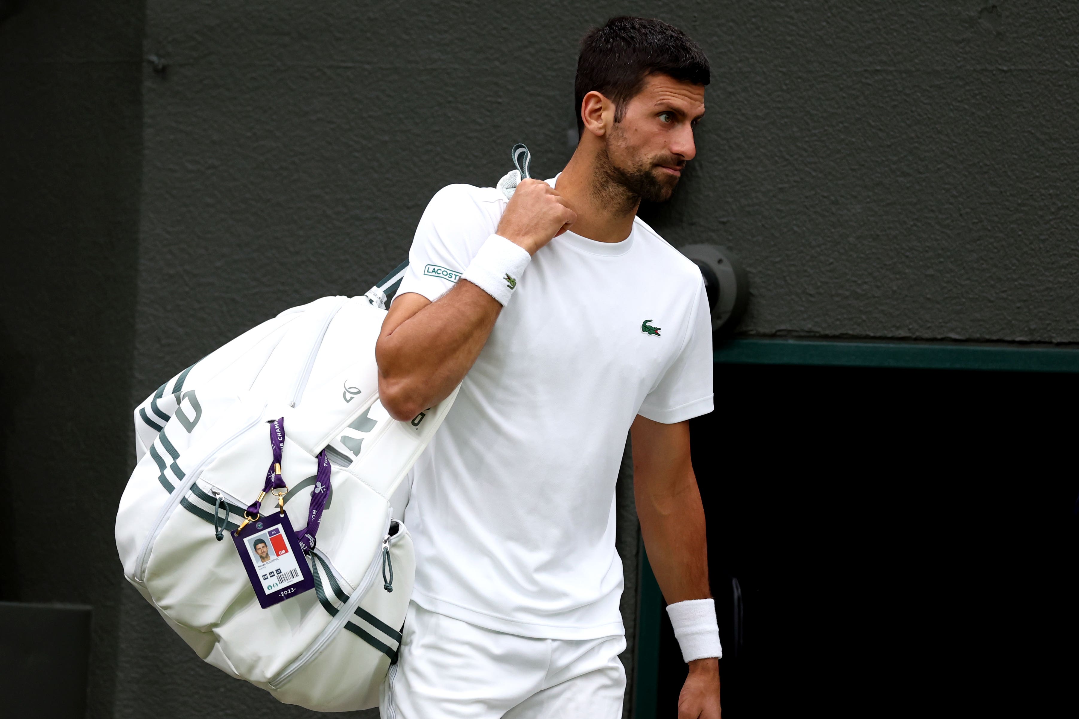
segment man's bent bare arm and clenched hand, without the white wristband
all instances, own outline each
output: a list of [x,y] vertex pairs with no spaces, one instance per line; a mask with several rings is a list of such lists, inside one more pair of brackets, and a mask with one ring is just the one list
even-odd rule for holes
[[[497,234],[530,254],[576,220],[554,188],[517,185]],[[394,301],[374,346],[379,397],[394,419],[411,419],[449,397],[479,357],[502,305],[466,279],[437,301],[407,292]]]

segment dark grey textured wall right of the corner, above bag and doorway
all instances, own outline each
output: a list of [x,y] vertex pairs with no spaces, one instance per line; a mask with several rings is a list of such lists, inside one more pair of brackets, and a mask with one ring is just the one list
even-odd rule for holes
[[514,141],[557,171],[575,44],[615,12],[712,58],[700,157],[648,215],[742,257],[743,332],[1079,341],[1074,3],[151,1],[140,387],[366,286]]

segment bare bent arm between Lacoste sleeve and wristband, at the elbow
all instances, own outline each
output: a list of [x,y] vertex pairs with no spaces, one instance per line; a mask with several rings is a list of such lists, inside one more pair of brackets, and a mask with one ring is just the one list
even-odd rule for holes
[[379,396],[395,419],[446,399],[472,369],[502,305],[467,280],[436,302],[406,294],[394,303],[374,349]]

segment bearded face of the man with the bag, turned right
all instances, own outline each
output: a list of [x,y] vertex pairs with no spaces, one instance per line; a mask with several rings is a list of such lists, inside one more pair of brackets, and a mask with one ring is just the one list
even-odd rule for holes
[[697,154],[693,128],[704,114],[704,85],[665,74],[646,78],[611,129],[606,151],[612,179],[643,199],[669,199],[685,164]]

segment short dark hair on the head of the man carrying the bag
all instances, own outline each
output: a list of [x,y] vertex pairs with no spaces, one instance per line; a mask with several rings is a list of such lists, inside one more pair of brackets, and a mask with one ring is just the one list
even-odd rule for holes
[[577,79],[573,94],[577,101],[577,133],[583,133],[581,103],[596,91],[615,103],[615,122],[625,105],[641,92],[650,74],[707,85],[711,80],[708,57],[685,32],[663,20],[646,17],[612,17],[592,28],[581,41]]

